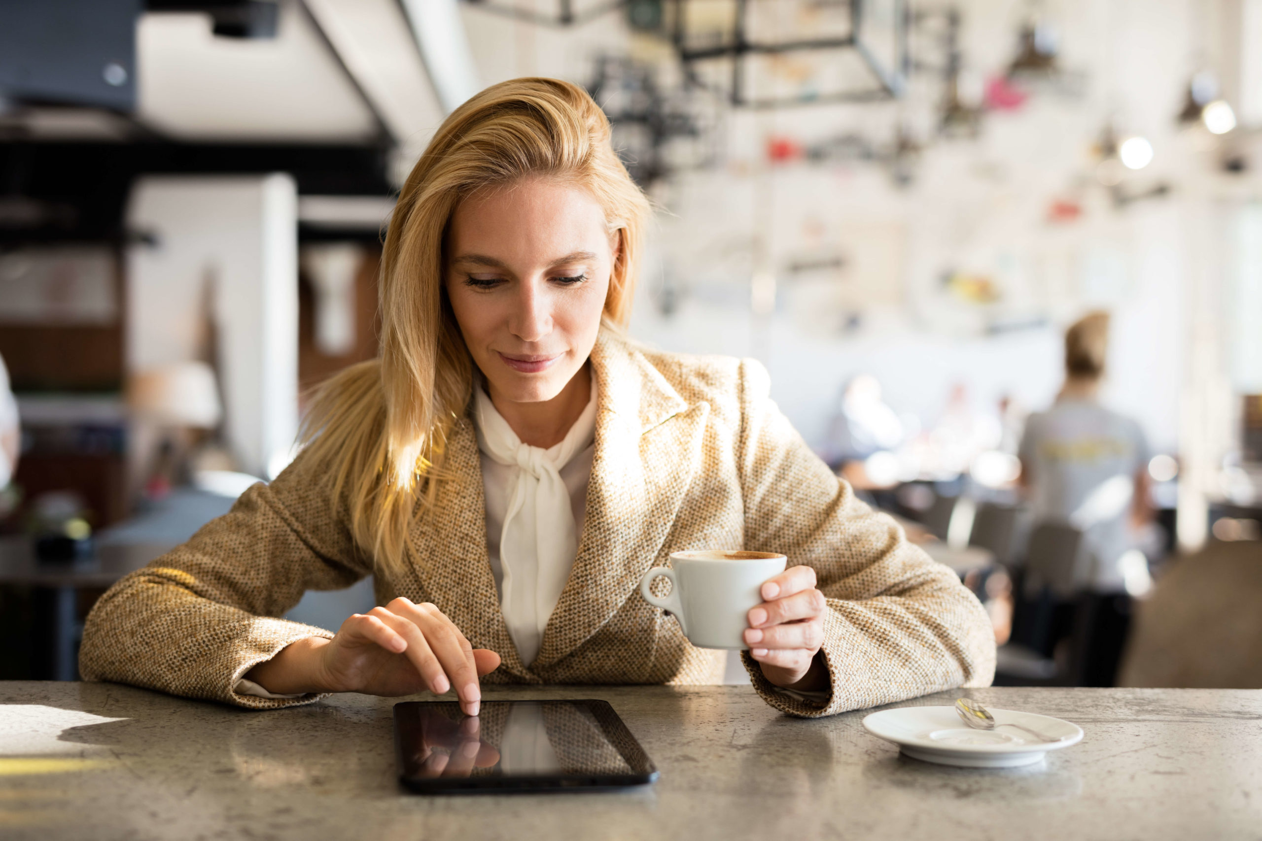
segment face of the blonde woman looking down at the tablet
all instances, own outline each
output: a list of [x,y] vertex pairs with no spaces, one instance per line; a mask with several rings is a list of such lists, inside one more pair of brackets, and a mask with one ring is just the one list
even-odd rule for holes
[[583,367],[618,237],[583,189],[533,178],[452,214],[447,295],[491,397],[557,397]]

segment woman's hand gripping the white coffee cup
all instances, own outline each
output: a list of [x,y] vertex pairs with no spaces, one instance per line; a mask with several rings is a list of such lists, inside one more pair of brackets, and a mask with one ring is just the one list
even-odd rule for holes
[[824,643],[828,603],[815,589],[815,570],[794,566],[762,584],[765,601],[750,609],[745,642],[762,675],[789,690],[829,687],[828,667],[819,656]]

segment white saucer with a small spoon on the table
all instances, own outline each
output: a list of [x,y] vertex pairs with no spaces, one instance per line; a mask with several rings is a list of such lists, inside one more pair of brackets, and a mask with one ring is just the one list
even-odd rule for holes
[[[991,710],[994,730],[973,730],[953,706],[905,706],[882,710],[863,719],[863,728],[878,739],[892,741],[912,759],[964,768],[1016,768],[1042,760],[1049,750],[1078,744],[1083,729],[1076,724],[1034,712]],[[1039,741],[1005,724],[1020,724],[1060,741]]]

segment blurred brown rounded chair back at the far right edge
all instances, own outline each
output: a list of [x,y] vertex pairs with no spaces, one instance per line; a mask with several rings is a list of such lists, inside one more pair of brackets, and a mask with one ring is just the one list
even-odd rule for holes
[[1214,541],[1138,603],[1118,686],[1262,688],[1262,542]]

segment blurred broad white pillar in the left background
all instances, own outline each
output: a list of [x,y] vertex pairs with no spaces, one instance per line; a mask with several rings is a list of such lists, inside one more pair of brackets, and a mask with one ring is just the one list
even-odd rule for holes
[[242,472],[271,478],[298,430],[293,178],[140,178],[127,227],[150,240],[127,250],[129,372],[197,358],[209,319],[225,443]]

